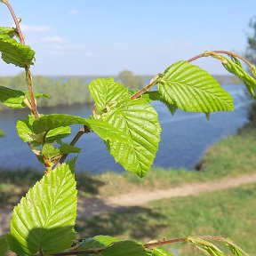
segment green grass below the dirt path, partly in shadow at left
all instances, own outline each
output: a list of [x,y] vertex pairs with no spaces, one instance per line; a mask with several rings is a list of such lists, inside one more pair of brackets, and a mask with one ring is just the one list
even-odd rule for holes
[[[201,196],[164,199],[93,218],[84,216],[77,221],[76,230],[81,237],[104,234],[143,242],[199,235],[232,237],[244,251],[255,255],[255,212],[256,184]],[[180,251],[180,255],[204,255],[191,245],[172,245],[172,251]]]

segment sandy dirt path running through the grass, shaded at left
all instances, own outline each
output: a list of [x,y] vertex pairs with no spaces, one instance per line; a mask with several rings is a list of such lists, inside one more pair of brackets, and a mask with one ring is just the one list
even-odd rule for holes
[[[124,207],[140,206],[164,198],[180,196],[196,196],[200,193],[235,188],[244,184],[256,183],[256,173],[237,177],[227,177],[198,183],[183,184],[178,188],[154,191],[134,191],[129,194],[108,197],[107,199],[80,199],[78,202],[78,218],[80,216],[96,216],[102,212],[124,210]],[[0,209],[0,236],[8,229],[12,212]]]

